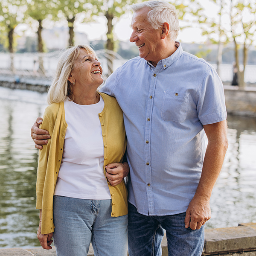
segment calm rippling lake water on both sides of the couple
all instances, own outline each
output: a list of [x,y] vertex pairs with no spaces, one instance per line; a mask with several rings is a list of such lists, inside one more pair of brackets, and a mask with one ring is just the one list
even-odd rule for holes
[[[0,87],[0,248],[40,246],[35,209],[38,151],[30,128],[46,95]],[[256,119],[228,116],[229,148],[207,228],[256,222]]]

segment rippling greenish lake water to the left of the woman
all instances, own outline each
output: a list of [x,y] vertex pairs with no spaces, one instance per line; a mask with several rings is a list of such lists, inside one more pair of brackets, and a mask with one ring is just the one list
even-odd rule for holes
[[0,247],[40,246],[35,235],[38,152],[29,127],[44,109],[33,102],[43,103],[45,96],[6,88],[0,95]]

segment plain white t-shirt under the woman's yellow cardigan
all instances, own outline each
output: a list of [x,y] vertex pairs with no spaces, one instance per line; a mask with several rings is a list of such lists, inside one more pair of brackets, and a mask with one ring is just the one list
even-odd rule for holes
[[103,172],[104,145],[98,114],[104,101],[78,105],[64,101],[67,131],[54,195],[81,199],[111,199]]

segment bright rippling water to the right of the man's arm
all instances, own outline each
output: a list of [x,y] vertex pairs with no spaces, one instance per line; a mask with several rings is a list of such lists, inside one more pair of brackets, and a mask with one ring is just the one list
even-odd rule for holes
[[256,119],[228,116],[229,148],[211,198],[207,228],[256,222]]

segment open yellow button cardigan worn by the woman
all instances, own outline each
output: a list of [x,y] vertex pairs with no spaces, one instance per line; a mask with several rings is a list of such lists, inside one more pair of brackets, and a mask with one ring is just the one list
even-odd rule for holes
[[[105,103],[103,111],[99,113],[104,143],[104,166],[109,163],[122,163],[126,149],[122,110],[115,98],[104,93],[99,94]],[[49,234],[55,228],[53,224],[53,195],[61,165],[64,138],[67,130],[64,102],[53,103],[46,108],[40,128],[49,131],[51,139],[39,151],[36,208],[42,209],[41,233]],[[105,174],[105,168],[103,169]],[[128,203],[124,180],[116,186],[111,186],[108,183],[108,187],[112,199],[111,216],[126,215],[128,213]]]

